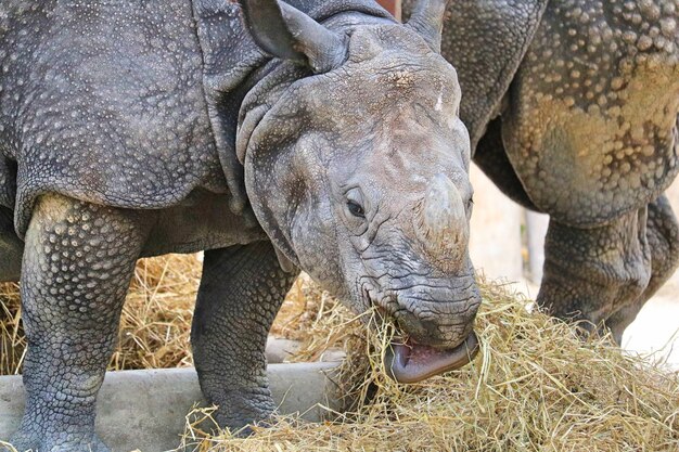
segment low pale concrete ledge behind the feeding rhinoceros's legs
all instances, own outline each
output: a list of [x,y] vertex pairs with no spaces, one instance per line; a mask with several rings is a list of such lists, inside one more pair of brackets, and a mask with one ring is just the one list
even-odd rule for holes
[[[318,403],[335,406],[326,393],[337,363],[270,364],[273,399],[284,414],[304,413],[319,421]],[[179,445],[184,416],[194,403],[205,405],[194,369],[108,372],[99,393],[97,431],[114,452],[167,451]],[[0,439],[8,440],[24,411],[21,376],[0,377]]]

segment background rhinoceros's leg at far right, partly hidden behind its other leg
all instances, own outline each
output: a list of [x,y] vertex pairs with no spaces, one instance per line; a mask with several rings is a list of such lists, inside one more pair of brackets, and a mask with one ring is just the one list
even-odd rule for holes
[[651,248],[651,281],[631,305],[615,312],[606,325],[620,344],[625,328],[635,321],[643,305],[672,275],[679,262],[679,224],[665,195],[649,204],[646,240]]

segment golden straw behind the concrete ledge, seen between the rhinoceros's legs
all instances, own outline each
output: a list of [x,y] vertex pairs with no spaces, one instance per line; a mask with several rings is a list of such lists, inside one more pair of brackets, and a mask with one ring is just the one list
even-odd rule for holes
[[[120,317],[110,371],[193,365],[189,339],[201,281],[201,255],[166,255],[139,260]],[[21,373],[26,350],[18,290],[17,284],[0,283],[0,375]],[[303,274],[287,294],[271,334],[313,340],[319,313],[328,312],[326,307],[333,304],[328,294]],[[300,354],[297,360],[316,358],[313,353]]]

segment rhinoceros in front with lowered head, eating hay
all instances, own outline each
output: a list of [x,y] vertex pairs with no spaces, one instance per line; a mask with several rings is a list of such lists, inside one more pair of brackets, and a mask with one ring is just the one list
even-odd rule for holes
[[222,426],[274,409],[264,348],[296,268],[424,346],[470,335],[470,142],[436,14],[408,27],[368,0],[291,3],[323,26],[287,7],[251,21],[296,62],[227,1],[0,4],[18,450],[106,450],[97,392],[142,256],[206,250],[192,346]]

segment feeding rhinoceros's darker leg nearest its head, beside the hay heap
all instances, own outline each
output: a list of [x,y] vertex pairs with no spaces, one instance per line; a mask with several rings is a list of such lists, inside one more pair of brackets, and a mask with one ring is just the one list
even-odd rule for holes
[[276,409],[267,376],[267,334],[296,274],[283,272],[269,242],[205,253],[191,328],[201,388],[221,427],[240,429]]

